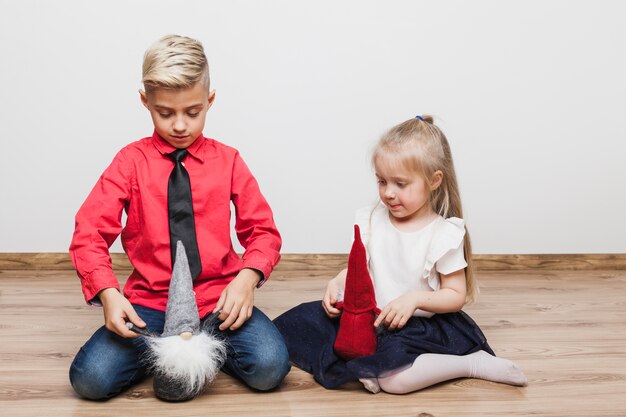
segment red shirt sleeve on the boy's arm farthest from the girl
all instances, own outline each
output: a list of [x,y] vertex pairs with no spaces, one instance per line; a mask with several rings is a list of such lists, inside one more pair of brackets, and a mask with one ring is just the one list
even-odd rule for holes
[[122,210],[130,195],[128,162],[120,151],[98,179],[78,210],[70,244],[70,257],[81,280],[85,300],[105,288],[117,288],[109,248],[122,231]]

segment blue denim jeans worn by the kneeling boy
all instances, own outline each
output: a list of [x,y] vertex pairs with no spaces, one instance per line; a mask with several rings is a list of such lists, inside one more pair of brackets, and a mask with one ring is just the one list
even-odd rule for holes
[[[138,305],[133,307],[148,330],[157,334],[163,331],[164,312]],[[270,390],[289,372],[289,354],[282,335],[256,307],[252,317],[239,329],[222,332],[216,324],[214,331],[228,342],[228,357],[222,371],[249,387]],[[101,327],[80,348],[72,362],[72,387],[80,396],[91,400],[114,397],[148,375],[141,361],[146,349],[141,337],[126,339]]]

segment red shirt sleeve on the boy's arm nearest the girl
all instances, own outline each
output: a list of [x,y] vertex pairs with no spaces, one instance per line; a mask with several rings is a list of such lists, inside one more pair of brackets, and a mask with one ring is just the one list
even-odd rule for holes
[[282,239],[272,210],[239,153],[233,163],[231,200],[235,206],[235,232],[245,248],[243,267],[261,272],[260,287],[280,260]]

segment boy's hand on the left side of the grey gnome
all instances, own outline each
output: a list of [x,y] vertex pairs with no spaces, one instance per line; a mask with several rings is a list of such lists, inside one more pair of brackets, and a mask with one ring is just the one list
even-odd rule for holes
[[116,288],[105,288],[100,291],[99,297],[104,312],[105,327],[122,337],[138,337],[137,333],[128,329],[126,322],[130,321],[138,327],[145,327],[146,323],[139,317],[126,297]]

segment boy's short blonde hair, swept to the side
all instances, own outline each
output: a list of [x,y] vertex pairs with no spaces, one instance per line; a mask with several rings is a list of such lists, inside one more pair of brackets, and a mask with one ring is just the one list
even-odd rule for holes
[[144,54],[142,82],[146,92],[189,88],[198,82],[209,91],[209,64],[202,43],[179,35],[162,37]]

